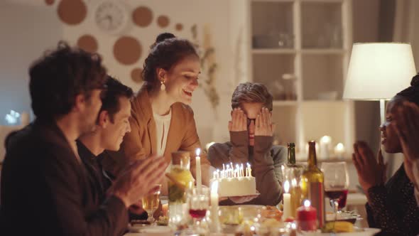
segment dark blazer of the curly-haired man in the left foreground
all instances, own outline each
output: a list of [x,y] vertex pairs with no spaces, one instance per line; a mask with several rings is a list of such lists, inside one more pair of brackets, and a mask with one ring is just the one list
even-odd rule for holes
[[124,203],[92,193],[85,167],[55,122],[37,120],[7,139],[1,235],[121,235]]

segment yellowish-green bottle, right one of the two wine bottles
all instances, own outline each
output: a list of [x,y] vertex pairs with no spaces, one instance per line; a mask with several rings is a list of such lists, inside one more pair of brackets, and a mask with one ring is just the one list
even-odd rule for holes
[[311,205],[317,209],[319,227],[325,225],[325,177],[317,167],[316,143],[308,142],[308,168],[304,171],[301,188],[304,198],[310,200]]

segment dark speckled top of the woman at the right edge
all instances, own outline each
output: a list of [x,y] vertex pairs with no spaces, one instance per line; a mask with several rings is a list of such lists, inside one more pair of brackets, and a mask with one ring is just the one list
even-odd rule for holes
[[403,164],[385,186],[369,188],[366,213],[369,227],[381,228],[379,235],[418,235],[419,208],[413,183]]

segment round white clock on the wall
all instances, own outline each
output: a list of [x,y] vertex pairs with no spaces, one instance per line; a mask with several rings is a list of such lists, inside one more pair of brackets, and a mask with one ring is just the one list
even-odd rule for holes
[[94,8],[94,23],[110,34],[119,34],[129,23],[126,6],[120,0],[103,0]]

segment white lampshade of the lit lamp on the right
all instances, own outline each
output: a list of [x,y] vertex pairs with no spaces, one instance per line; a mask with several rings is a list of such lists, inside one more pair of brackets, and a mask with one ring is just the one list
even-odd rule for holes
[[410,86],[416,74],[408,43],[355,43],[343,99],[386,100]]

